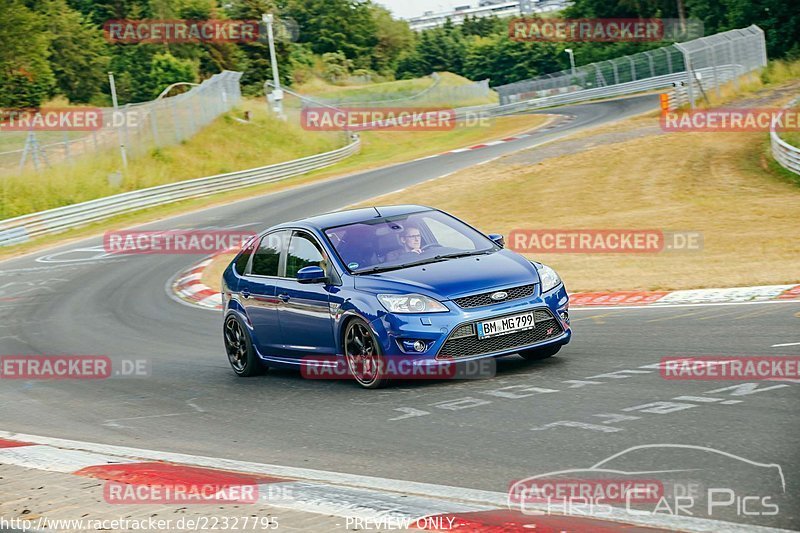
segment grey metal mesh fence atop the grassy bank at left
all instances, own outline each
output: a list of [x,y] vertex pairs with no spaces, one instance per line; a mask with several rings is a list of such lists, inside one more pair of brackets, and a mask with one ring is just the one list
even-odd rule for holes
[[223,71],[177,96],[101,108],[101,127],[89,132],[0,131],[0,172],[38,170],[111,149],[136,157],[180,143],[239,104],[241,76]]

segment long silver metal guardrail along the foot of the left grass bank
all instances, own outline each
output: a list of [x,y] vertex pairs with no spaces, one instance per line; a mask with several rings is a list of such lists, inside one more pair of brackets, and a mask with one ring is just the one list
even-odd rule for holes
[[361,140],[353,136],[347,146],[293,161],[159,185],[10,218],[0,221],[0,246],[18,244],[138,209],[299,176],[338,163],[360,148]]

